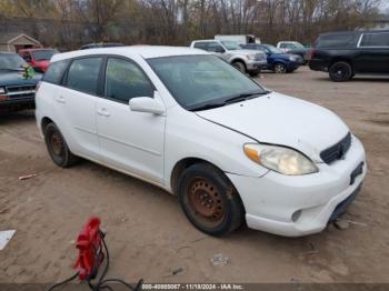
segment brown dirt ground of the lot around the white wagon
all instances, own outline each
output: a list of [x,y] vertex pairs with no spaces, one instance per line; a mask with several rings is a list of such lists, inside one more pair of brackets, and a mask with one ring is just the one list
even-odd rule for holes
[[[276,91],[338,113],[367,150],[369,173],[342,219],[347,229],[288,239],[243,228],[216,239],[197,231],[178,200],[91,162],[56,167],[33,112],[0,118],[0,230],[17,230],[0,251],[0,283],[54,282],[73,273],[74,239],[100,215],[111,253],[108,277],[146,282],[389,282],[389,79],[347,83],[300,68],[263,73]],[[23,174],[36,178],[19,181]],[[227,265],[213,265],[222,253]],[[172,274],[172,270],[182,271]]]

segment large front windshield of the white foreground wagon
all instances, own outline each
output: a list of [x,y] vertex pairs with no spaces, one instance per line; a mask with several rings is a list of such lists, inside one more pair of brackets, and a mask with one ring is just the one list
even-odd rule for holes
[[253,80],[215,56],[177,56],[148,60],[151,68],[187,110],[225,102],[231,97],[266,93]]

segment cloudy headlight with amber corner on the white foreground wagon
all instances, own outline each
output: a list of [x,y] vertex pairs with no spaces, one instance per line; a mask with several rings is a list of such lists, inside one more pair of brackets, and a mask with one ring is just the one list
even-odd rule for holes
[[319,171],[310,159],[289,148],[259,143],[247,143],[243,148],[250,160],[282,174],[299,175]]

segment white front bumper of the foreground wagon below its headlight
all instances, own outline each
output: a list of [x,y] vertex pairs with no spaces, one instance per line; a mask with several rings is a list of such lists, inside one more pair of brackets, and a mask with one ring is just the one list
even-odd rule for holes
[[[350,184],[351,173],[361,162],[362,172]],[[337,205],[355,194],[365,179],[363,147],[353,137],[343,160],[317,165],[318,173],[299,177],[273,171],[261,178],[227,173],[242,199],[248,227],[286,237],[322,231]]]

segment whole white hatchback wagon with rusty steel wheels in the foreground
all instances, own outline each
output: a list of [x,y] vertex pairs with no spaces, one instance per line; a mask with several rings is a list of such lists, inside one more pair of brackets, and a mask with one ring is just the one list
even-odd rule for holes
[[81,157],[159,185],[212,235],[245,220],[281,235],[319,232],[367,171],[361,142],[331,111],[269,91],[201,50],[56,54],[36,102],[56,164]]

